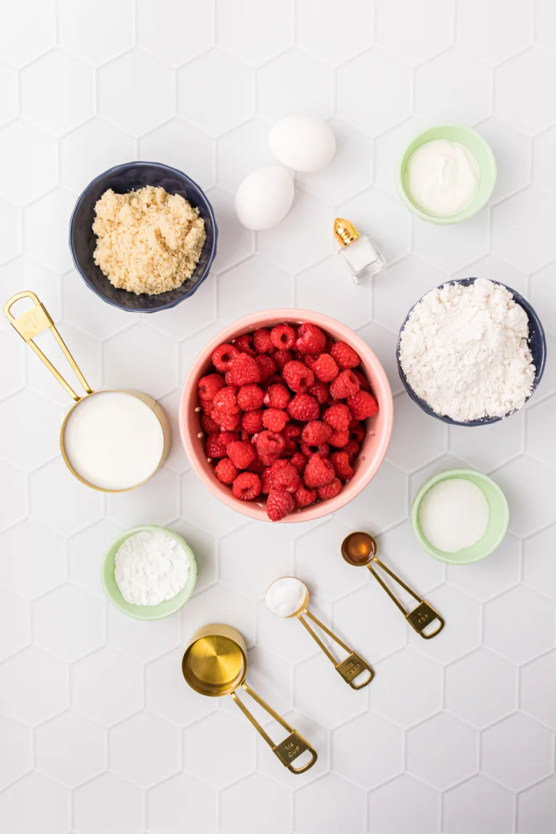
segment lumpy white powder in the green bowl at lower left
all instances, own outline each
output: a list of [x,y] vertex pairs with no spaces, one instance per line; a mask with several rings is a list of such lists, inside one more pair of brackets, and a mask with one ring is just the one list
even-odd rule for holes
[[172,600],[188,580],[189,560],[178,542],[158,530],[130,535],[118,547],[114,578],[131,605]]

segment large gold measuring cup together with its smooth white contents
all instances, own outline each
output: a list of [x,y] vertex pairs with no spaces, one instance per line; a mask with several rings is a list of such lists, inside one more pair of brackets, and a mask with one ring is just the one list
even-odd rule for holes
[[[14,304],[30,299],[32,307],[14,315]],[[60,430],[60,448],[68,470],[93,490],[125,492],[144,484],[163,465],[171,445],[170,425],[162,405],[142,391],[93,391],[37,295],[26,290],[4,304],[4,314],[53,377],[74,400]],[[34,339],[50,330],[83,387],[77,394]]]

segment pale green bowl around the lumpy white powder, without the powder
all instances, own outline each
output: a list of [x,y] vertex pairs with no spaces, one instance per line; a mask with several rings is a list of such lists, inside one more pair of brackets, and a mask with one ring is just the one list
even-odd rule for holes
[[[170,538],[175,540],[183,548],[189,564],[188,578],[182,590],[178,591],[171,600],[164,600],[164,602],[158,605],[132,605],[126,602],[114,577],[117,550],[130,536],[143,533],[144,531],[164,533],[170,536]],[[164,617],[169,617],[175,614],[180,608],[183,608],[183,605],[185,605],[189,597],[193,594],[193,589],[197,582],[197,562],[195,561],[193,550],[191,550],[187,541],[181,535],[178,535],[178,533],[174,533],[173,530],[168,530],[168,527],[158,527],[158,525],[153,524],[139,525],[119,535],[118,539],[110,545],[101,565],[101,581],[108,599],[123,614],[134,617],[136,620],[163,620]]]

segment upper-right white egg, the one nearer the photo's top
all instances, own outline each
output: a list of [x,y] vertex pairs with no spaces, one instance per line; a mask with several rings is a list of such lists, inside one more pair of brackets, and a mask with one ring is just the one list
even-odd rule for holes
[[287,116],[268,134],[274,156],[294,171],[320,171],[336,151],[328,124],[309,116]]

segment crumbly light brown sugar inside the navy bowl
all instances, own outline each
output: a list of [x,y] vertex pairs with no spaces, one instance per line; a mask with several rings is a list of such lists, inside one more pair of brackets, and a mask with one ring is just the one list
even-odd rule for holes
[[204,220],[180,194],[147,185],[103,193],[95,205],[93,259],[114,287],[158,295],[191,278],[206,238]]

